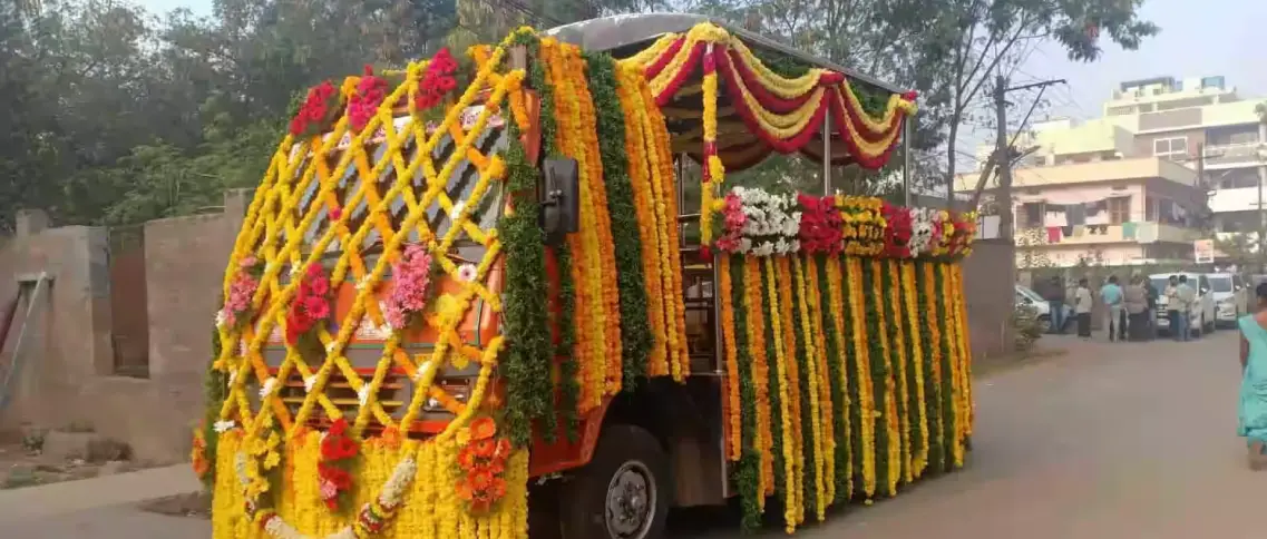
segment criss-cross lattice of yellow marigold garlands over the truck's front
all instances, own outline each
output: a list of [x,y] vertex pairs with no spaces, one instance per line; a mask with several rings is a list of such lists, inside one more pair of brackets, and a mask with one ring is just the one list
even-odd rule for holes
[[[327,395],[336,375],[360,396],[352,405],[355,420],[348,419],[353,435],[371,421],[386,429],[409,424],[424,402],[438,401],[457,416],[441,434],[447,438],[479,407],[500,339],[470,344],[462,328],[471,325],[464,321],[476,311],[500,311],[498,296],[487,286],[500,249],[495,219],[489,216],[500,210],[506,173],[495,154],[506,143],[495,105],[519,91],[523,77],[522,71],[500,68],[502,51],[481,62],[475,81],[440,125],[424,125],[411,114],[418,75],[426,70],[422,62],[411,66],[405,82],[385,96],[362,130],[353,133],[342,118],[331,133],[288,137],[277,149],[229,262],[234,268],[246,257],[264,261],[252,299],[252,311],[260,315],[241,330],[219,330],[223,353],[217,366],[231,373],[220,420],[237,420],[248,440],[274,420],[294,434],[298,426],[322,419],[314,415],[317,409],[326,420],[342,418],[348,402]],[[353,364],[345,350],[360,329],[390,328],[378,294],[388,288],[385,273],[407,245],[430,253],[446,276],[435,313],[423,316],[426,328],[408,334],[431,342],[402,343],[399,330],[380,333],[379,361]],[[313,329],[323,349],[319,353],[313,353],[315,347],[280,339],[304,268],[314,263],[328,268],[338,305],[331,326]],[[411,357],[405,348],[423,352]],[[432,383],[443,369],[471,361],[478,362],[480,377],[465,404]],[[265,387],[258,405],[252,405],[246,387],[252,376]],[[389,376],[414,381],[412,401],[385,406],[379,400]],[[290,380],[307,391],[284,400],[281,386]]]

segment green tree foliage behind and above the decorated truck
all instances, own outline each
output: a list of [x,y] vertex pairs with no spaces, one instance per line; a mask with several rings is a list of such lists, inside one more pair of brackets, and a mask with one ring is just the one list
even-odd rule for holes
[[[461,53],[522,24],[653,10],[704,13],[917,90],[911,161],[916,182],[935,185],[972,97],[964,87],[990,71],[990,42],[1040,35],[1093,59],[1088,24],[1128,48],[1156,32],[1136,20],[1140,1],[214,0],[208,16],[127,0],[4,1],[0,230],[20,208],[120,224],[219,205],[223,189],[258,180],[296,95],[321,80],[442,46]],[[832,189],[900,199],[891,172],[836,171]],[[820,175],[786,157],[732,177],[816,191]]]

